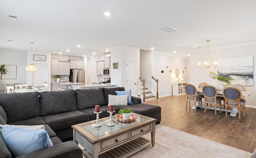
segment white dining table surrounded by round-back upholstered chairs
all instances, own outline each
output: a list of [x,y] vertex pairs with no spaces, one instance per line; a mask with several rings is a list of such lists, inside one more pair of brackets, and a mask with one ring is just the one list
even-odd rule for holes
[[[251,95],[251,93],[249,91],[241,91],[242,92],[242,96],[244,97],[249,97]],[[202,92],[202,88],[197,88],[197,93],[203,93]],[[218,97],[223,97],[223,91],[218,91]],[[224,97],[223,97],[224,98]],[[202,98],[204,99],[204,98]],[[196,108],[200,107],[198,105],[198,102],[196,103]],[[204,105],[202,105],[202,108],[204,108]],[[195,109],[195,106],[192,107],[192,109]],[[207,107],[207,109],[215,109],[214,107]],[[218,111],[226,111],[226,109],[220,109],[220,108],[216,108],[216,110]],[[233,107],[232,110],[228,110],[228,112],[230,112],[230,116],[232,117],[236,117],[236,115],[238,114],[238,109],[236,107]]]

